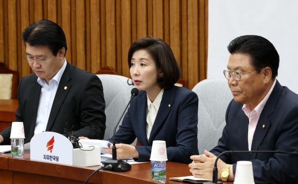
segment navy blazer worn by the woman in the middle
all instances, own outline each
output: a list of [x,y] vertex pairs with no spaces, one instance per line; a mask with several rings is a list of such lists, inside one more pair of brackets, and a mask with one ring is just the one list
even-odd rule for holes
[[[139,158],[150,161],[153,140],[165,140],[169,161],[190,163],[191,155],[197,155],[198,96],[182,87],[172,86],[164,90],[149,141],[146,136],[147,95],[140,91],[125,114],[116,133],[116,143],[132,144],[135,138]],[[113,137],[109,139],[113,142]]]

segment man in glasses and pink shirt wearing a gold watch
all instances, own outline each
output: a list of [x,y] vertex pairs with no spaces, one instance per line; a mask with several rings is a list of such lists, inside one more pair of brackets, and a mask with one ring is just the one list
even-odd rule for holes
[[[191,172],[212,178],[216,156],[224,151],[298,152],[298,95],[276,80],[280,62],[274,46],[255,35],[240,36],[228,46],[224,71],[234,99],[218,145],[191,156]],[[233,153],[218,160],[218,179],[233,181],[236,163],[250,160],[256,183],[298,183],[298,156],[280,153]]]

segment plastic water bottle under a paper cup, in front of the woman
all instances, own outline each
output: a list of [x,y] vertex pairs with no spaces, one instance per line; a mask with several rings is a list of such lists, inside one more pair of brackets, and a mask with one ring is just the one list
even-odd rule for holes
[[153,161],[151,160],[151,176],[152,181],[165,183],[165,161]]

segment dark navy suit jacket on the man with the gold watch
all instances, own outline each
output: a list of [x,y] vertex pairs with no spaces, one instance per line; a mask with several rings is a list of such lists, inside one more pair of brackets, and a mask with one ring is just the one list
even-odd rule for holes
[[[211,150],[215,155],[228,150],[248,151],[249,119],[242,107],[243,104],[234,100],[229,104],[227,125],[218,146]],[[251,150],[298,152],[298,95],[281,86],[278,81],[260,114]],[[298,183],[298,155],[233,153],[224,155],[221,159],[233,164],[234,176],[237,161],[252,161],[256,183]]]

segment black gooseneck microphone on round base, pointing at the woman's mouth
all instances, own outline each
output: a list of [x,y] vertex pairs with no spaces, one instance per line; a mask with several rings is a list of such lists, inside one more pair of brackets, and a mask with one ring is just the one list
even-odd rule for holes
[[132,98],[131,98],[131,100],[128,101],[127,106],[125,107],[125,109],[124,109],[124,111],[123,111],[117,125],[114,128],[112,159],[107,159],[104,162],[104,167],[106,167],[108,165],[112,166],[111,171],[121,171],[121,172],[123,172],[123,171],[128,171],[129,169],[132,168],[132,166],[129,163],[127,163],[126,161],[122,161],[121,159],[117,159],[117,149],[116,149],[116,144],[115,144],[116,128],[118,127],[118,125],[121,121],[121,118],[123,117],[123,115],[124,115],[126,109],[128,108],[129,104],[131,104],[131,101],[133,100],[133,98],[139,94],[139,90],[137,88],[133,88],[131,93],[132,93]]

